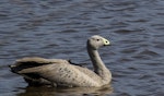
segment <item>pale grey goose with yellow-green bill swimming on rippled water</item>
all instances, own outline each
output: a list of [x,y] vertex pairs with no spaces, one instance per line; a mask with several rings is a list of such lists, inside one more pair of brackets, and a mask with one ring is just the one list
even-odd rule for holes
[[110,45],[109,40],[93,35],[86,41],[86,49],[94,71],[71,63],[65,59],[25,57],[10,65],[13,73],[20,74],[28,85],[55,87],[101,87],[112,81],[112,73],[102,61],[98,48]]

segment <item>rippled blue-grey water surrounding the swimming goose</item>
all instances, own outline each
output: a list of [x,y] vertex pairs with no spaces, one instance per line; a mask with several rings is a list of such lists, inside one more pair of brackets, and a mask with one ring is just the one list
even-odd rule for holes
[[[164,96],[163,0],[1,0],[0,96]],[[8,68],[37,56],[89,63],[85,41],[102,35],[112,87],[27,87]]]

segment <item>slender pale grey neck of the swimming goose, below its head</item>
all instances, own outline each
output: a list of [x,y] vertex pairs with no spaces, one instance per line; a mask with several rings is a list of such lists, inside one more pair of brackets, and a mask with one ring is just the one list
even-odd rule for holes
[[112,74],[102,61],[98,51],[87,46],[87,52],[92,60],[95,73],[99,75],[104,81],[109,82],[108,80],[112,77]]

